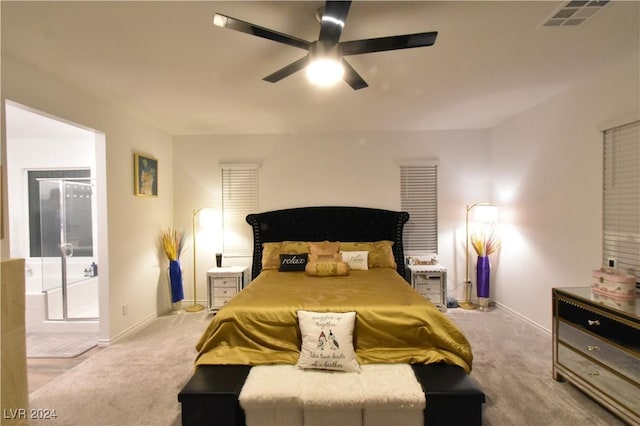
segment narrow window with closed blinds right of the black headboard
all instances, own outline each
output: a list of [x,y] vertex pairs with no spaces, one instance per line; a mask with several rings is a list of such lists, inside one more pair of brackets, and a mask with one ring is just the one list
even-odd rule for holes
[[400,166],[400,208],[409,213],[404,227],[407,252],[438,252],[438,165],[420,162]]

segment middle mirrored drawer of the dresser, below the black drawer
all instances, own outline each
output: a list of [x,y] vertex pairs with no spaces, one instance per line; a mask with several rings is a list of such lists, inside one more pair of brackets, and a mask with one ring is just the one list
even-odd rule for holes
[[562,320],[558,323],[558,339],[640,384],[640,358],[637,356]]

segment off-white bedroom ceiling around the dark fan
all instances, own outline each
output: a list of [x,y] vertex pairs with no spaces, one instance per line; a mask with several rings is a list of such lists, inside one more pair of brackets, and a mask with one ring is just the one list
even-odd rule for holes
[[351,56],[368,82],[262,78],[305,52],[214,27],[218,12],[313,41],[324,2],[2,1],[2,56],[173,135],[491,128],[637,54],[638,1],[586,23],[541,23],[566,2],[355,1],[341,40],[438,31],[432,47]]

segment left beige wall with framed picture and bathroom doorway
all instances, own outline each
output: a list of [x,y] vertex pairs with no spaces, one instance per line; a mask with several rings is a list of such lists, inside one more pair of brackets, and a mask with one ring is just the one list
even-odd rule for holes
[[[108,341],[169,308],[166,260],[158,244],[160,233],[173,222],[173,144],[167,135],[118,108],[92,98],[60,81],[2,58],[2,103],[5,99],[104,134],[96,143],[96,170],[104,182],[98,206],[107,220],[101,238],[100,338]],[[4,107],[3,119],[4,123]],[[98,138],[100,139],[100,138]],[[133,153],[159,160],[159,196],[133,195]],[[2,161],[6,154],[2,133]],[[105,166],[106,165],[106,166]],[[5,228],[5,233],[7,228]],[[8,253],[8,238],[2,241]],[[102,282],[107,282],[102,286]],[[122,306],[128,304],[124,316]],[[108,314],[103,314],[108,311]]]

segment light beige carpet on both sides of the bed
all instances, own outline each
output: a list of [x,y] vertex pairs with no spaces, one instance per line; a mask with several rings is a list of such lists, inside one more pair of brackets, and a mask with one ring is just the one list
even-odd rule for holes
[[[447,315],[471,342],[471,377],[486,395],[485,426],[624,425],[553,380],[549,333],[499,308]],[[204,312],[160,317],[31,393],[30,406],[56,410],[46,425],[180,426],[177,395],[193,374],[194,346],[209,320]]]

